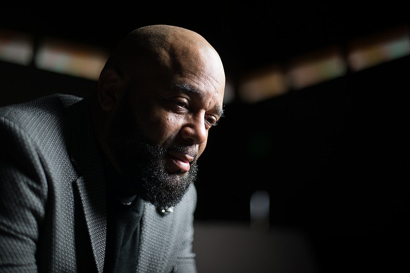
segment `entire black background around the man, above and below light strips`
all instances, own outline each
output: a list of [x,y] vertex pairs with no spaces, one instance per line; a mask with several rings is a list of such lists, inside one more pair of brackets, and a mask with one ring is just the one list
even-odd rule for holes
[[[187,27],[215,46],[235,82],[408,24],[400,2],[101,5],[4,7],[0,27],[107,49],[144,25]],[[200,159],[196,219],[248,223],[252,193],[266,190],[271,227],[306,234],[323,272],[408,268],[408,60],[258,103],[227,104]],[[95,84],[33,66],[0,62],[0,69],[2,105],[56,92],[84,95]]]

